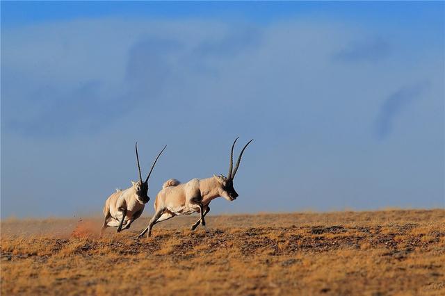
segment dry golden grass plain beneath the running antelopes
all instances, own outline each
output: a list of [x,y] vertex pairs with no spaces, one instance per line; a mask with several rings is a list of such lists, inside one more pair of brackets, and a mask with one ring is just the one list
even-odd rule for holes
[[445,211],[1,222],[2,295],[445,295]]

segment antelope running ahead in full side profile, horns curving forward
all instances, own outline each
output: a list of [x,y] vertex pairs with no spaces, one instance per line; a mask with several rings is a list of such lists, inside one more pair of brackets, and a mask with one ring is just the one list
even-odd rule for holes
[[147,238],[152,236],[152,227],[156,223],[177,215],[191,215],[192,213],[199,212],[201,217],[192,224],[191,231],[193,231],[199,224],[202,226],[206,225],[204,217],[210,212],[209,204],[213,199],[224,197],[228,201],[234,201],[238,197],[238,193],[234,189],[234,177],[238,171],[245,148],[253,141],[253,139],[250,140],[243,147],[233,170],[234,147],[238,138],[234,140],[232,145],[227,176],[223,176],[223,174],[216,176],[213,174],[210,178],[192,179],[187,183],[181,183],[176,179],[165,181],[154,201],[155,214],[149,221],[148,227],[137,238],[141,238],[147,231]]

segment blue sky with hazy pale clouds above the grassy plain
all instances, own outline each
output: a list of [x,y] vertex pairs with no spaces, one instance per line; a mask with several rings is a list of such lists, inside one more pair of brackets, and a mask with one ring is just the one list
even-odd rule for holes
[[214,213],[444,206],[443,2],[1,2],[1,215],[227,174]]

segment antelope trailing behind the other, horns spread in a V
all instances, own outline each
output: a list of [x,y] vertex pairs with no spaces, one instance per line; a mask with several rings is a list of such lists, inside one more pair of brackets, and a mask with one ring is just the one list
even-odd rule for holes
[[[167,145],[165,145],[167,147]],[[145,204],[150,200],[148,196],[148,179],[152,174],[154,165],[158,161],[165,147],[159,152],[158,156],[154,160],[152,168],[148,173],[147,179],[142,181],[142,175],[140,174],[139,156],[138,156],[138,142],[136,142],[136,161],[138,163],[139,181],[131,181],[131,187],[125,190],[116,189],[108,199],[106,199],[104,206],[105,220],[101,229],[101,236],[104,233],[106,227],[118,227],[118,232],[129,229],[131,223],[138,219],[144,211]],[[122,229],[124,226],[124,229]]]

